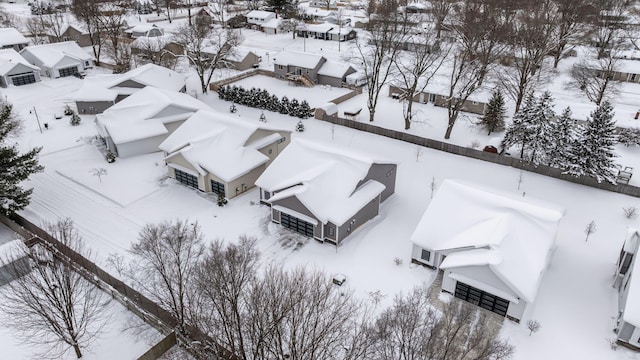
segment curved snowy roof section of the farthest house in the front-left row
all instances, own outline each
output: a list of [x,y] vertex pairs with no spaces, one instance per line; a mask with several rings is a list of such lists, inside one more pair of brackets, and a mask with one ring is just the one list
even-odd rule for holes
[[163,66],[145,64],[122,74],[109,87],[115,90],[127,80],[165,90],[180,91],[185,86],[186,77]]

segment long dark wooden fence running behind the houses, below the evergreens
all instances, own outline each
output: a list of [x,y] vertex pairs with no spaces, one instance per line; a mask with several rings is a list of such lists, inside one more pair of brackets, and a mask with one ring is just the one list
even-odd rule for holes
[[316,109],[315,118],[323,120],[332,124],[345,126],[351,129],[365,131],[371,134],[384,136],[390,139],[399,140],[419,146],[424,146],[430,149],[444,151],[449,154],[465,156],[472,159],[491,162],[498,165],[510,166],[516,169],[533,172],[540,175],[549,176],[552,178],[565,180],[574,184],[580,184],[589,186],[601,190],[611,191],[623,195],[629,195],[633,197],[640,197],[640,187],[617,184],[613,185],[608,182],[598,182],[595,178],[589,176],[575,177],[567,174],[563,174],[561,169],[546,166],[546,165],[534,165],[527,161],[517,159],[510,156],[498,155],[486,151],[476,150],[464,146],[454,145],[443,141],[423,138],[417,135],[408,134],[401,131],[385,129],[379,126],[372,125],[368,122],[359,122],[355,120],[345,119],[335,115],[328,115],[323,109]]

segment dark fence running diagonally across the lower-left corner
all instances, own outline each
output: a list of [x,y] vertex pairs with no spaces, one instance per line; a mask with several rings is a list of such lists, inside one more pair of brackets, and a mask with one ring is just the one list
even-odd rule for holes
[[[64,255],[71,263],[78,266],[80,269],[85,272],[92,274],[93,276],[85,276],[87,280],[93,282],[97,286],[99,286],[104,291],[111,293],[112,296],[116,297],[113,291],[117,292],[120,296],[124,297],[123,304],[130,311],[134,312],[136,315],[141,317],[146,323],[157,328],[158,326],[169,329],[172,333],[177,337],[176,342],[181,342],[184,345],[190,345],[192,343],[199,343],[203,345],[211,344],[216,351],[216,359],[219,360],[236,360],[237,357],[233,355],[228,350],[222,348],[215,342],[212,338],[204,334],[198,328],[193,326],[185,326],[185,330],[188,333],[188,338],[182,336],[181,334],[173,331],[178,325],[177,321],[171,316],[171,314],[156,304],[154,301],[147,298],[145,295],[141,294],[137,290],[133,289],[129,285],[125,284],[121,280],[112,276],[98,265],[96,265],[93,261],[87,259],[81,254],[77,253],[73,249],[69,248],[58,239],[51,236],[45,230],[35,225],[31,221],[27,220],[21,215],[13,214],[10,217],[0,215],[0,223],[3,223],[11,230],[15,231],[19,235],[21,235],[25,239],[25,244],[33,245],[38,242],[42,242],[46,246],[50,246],[53,250],[59,252]],[[86,275],[86,274],[85,274]],[[99,282],[102,284],[100,284]],[[108,285],[104,286],[104,284]],[[110,288],[109,288],[110,287]],[[117,297],[116,297],[117,298]],[[167,332],[167,331],[165,331]],[[156,346],[163,347],[166,346],[170,340],[166,338],[163,339],[166,343],[164,345],[160,345],[160,343],[156,344]],[[155,347],[155,346],[154,346]],[[167,347],[166,350],[169,348]],[[194,355],[196,358],[202,358],[203,355],[200,354],[197,349],[193,349],[190,346],[185,346],[185,349]],[[165,350],[165,351],[166,351]],[[154,354],[157,354],[159,350],[156,350]],[[208,354],[210,355],[210,354]],[[150,356],[150,355],[149,355]],[[159,357],[160,355],[158,355]],[[209,357],[210,358],[210,357]],[[151,358],[145,358],[143,360],[148,360]]]

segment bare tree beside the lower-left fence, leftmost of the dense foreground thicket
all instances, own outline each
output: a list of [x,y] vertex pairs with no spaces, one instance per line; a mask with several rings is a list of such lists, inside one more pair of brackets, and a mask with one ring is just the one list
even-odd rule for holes
[[173,315],[182,332],[195,298],[195,276],[204,250],[200,226],[182,220],[148,224],[131,245],[134,259],[128,276]]

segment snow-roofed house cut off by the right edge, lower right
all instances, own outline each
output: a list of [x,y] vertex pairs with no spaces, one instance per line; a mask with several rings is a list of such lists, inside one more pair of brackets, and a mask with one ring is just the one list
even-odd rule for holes
[[616,266],[614,286],[618,288],[618,318],[614,331],[618,342],[640,350],[640,234],[629,229]]

